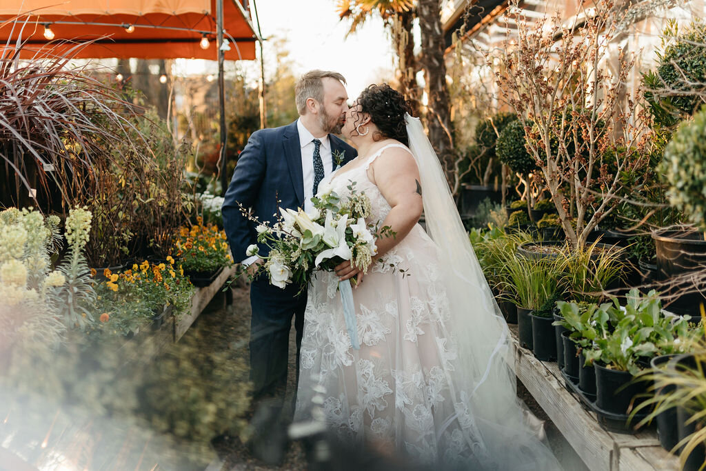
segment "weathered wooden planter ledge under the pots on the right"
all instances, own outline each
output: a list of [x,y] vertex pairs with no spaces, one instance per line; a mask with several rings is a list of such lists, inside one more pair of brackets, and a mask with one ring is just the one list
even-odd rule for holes
[[590,470],[679,469],[678,458],[659,445],[654,427],[634,435],[602,429],[596,415],[564,388],[556,362],[540,362],[530,350],[520,347],[517,326],[510,326],[510,335],[517,378]]

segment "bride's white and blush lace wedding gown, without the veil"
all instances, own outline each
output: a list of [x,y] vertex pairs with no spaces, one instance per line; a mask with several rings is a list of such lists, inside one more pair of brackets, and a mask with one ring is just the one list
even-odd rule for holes
[[[407,149],[387,145],[364,165],[332,176],[333,190],[342,200],[350,196],[352,181],[356,191],[369,196],[372,222],[385,220],[390,205],[367,169],[392,146]],[[371,266],[353,291],[360,350],[352,348],[347,333],[337,276],[316,274],[304,313],[294,419],[309,417],[314,388],[323,386],[318,389],[325,390],[325,421],[345,443],[375,441],[426,464],[453,469],[510,469],[510,463],[493,455],[513,446],[504,441],[513,437],[499,436],[504,432],[495,427],[484,432],[489,427],[477,421],[473,391],[461,389],[472,381],[457,381],[460,375],[481,376],[483,371],[463,371],[457,364],[438,251],[417,224]],[[514,384],[510,387],[514,395]],[[531,462],[532,456],[525,455],[511,465],[551,468]]]

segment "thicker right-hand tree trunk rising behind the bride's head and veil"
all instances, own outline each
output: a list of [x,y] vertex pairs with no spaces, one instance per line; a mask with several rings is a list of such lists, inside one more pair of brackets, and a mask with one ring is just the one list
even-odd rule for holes
[[446,64],[443,59],[444,37],[441,29],[441,0],[419,0],[417,17],[421,30],[421,66],[426,78],[428,104],[426,128],[429,141],[441,160],[446,177],[453,172],[453,144],[451,142],[451,114]]

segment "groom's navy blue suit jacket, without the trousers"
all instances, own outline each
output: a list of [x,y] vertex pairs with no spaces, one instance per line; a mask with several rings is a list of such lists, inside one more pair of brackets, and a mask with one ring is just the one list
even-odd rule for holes
[[[340,138],[330,134],[332,154],[342,153],[341,165],[357,156],[357,152]],[[335,158],[332,159],[336,166]],[[278,201],[279,200],[279,201]],[[304,179],[301,172],[301,145],[297,121],[287,126],[260,129],[252,133],[240,153],[233,178],[223,202],[223,225],[235,261],[247,258],[245,251],[255,244],[256,224],[243,217],[238,203],[252,208],[262,222],[274,222],[278,208],[304,208]],[[260,254],[268,248],[260,245]]]

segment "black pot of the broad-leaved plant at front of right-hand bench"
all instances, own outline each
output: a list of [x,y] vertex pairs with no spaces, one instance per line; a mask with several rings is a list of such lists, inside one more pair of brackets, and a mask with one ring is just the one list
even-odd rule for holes
[[596,371],[596,406],[611,414],[628,414],[630,405],[637,404],[636,395],[647,391],[645,381],[630,383],[633,375],[629,371],[609,369],[602,364],[594,364]]

